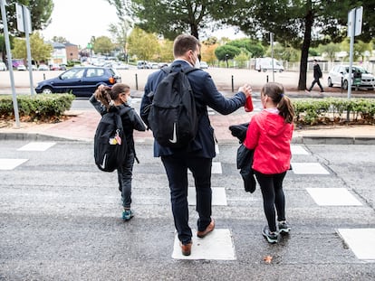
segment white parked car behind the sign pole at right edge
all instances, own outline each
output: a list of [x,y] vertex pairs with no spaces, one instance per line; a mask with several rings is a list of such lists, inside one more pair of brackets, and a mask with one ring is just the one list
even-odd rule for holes
[[[374,76],[361,66],[351,66],[351,88],[359,87],[374,89]],[[354,77],[354,80],[353,80]],[[342,83],[342,84],[341,84]],[[349,86],[349,65],[336,65],[328,74],[328,86],[339,86],[348,89]]]

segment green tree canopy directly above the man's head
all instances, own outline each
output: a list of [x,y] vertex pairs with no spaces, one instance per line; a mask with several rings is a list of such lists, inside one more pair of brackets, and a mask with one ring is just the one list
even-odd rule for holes
[[201,29],[215,28],[219,21],[213,20],[213,14],[219,17],[226,6],[224,0],[108,0],[115,5],[119,16],[132,14],[138,18],[139,28],[148,33],[162,34],[174,40],[181,33],[190,33],[198,38]]

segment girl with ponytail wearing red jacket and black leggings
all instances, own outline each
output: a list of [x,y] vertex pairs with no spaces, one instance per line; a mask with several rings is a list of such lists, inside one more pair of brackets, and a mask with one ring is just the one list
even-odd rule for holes
[[276,243],[279,233],[288,233],[291,229],[285,220],[283,181],[290,167],[294,109],[279,83],[265,84],[261,101],[264,110],[252,118],[244,145],[255,149],[253,169],[262,190],[268,222],[262,234],[268,242]]

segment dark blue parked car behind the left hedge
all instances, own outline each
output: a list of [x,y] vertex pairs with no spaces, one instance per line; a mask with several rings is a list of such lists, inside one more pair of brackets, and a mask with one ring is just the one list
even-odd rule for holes
[[74,67],[56,78],[38,83],[35,91],[40,94],[72,93],[76,97],[90,97],[99,85],[120,83],[117,70],[103,67]]

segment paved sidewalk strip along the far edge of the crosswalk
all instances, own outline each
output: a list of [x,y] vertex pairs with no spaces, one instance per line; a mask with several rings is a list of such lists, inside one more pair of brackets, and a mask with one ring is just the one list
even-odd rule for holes
[[[0,139],[32,139],[32,140],[77,140],[92,142],[100,116],[94,110],[76,110],[67,112],[71,117],[56,124],[34,124],[22,122],[19,127],[0,127]],[[228,126],[248,122],[249,114],[232,114],[228,116],[210,116],[219,143],[237,142]],[[152,133],[134,132],[136,142],[153,141]],[[293,143],[299,144],[337,144],[337,145],[375,145],[375,126],[316,126],[308,129],[296,128]]]

